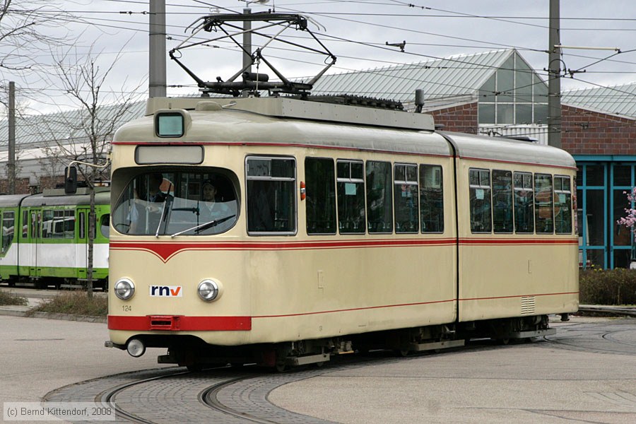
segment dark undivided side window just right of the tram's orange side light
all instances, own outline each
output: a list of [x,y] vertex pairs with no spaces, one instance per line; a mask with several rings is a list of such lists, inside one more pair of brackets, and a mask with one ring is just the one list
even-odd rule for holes
[[336,234],[334,160],[305,158],[307,234]]

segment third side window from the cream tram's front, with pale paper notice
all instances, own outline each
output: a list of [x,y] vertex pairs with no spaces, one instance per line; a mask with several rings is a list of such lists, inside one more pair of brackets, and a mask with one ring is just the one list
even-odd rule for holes
[[338,228],[341,234],[365,233],[365,170],[359,160],[338,160]]

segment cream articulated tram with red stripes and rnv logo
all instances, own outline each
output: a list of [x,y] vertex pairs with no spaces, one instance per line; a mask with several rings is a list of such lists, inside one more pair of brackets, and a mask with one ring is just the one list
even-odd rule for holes
[[131,355],[285,367],[577,311],[559,149],[292,98],[153,98],[112,146],[106,345]]

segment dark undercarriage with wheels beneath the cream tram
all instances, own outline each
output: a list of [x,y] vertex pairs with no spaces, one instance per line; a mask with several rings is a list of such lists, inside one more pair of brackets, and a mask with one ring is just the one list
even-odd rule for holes
[[[562,318],[567,319],[567,314]],[[109,342],[106,346],[127,349],[134,356],[143,355],[146,347],[169,346],[166,355],[158,356],[158,363],[186,366],[189,370],[256,363],[283,371],[301,365],[319,366],[336,355],[392,350],[406,356],[416,352],[458,348],[471,339],[490,338],[507,344],[510,340],[548,336],[555,332],[548,326],[547,315],[537,315],[245,346],[213,346],[194,336],[171,335],[136,336],[128,342],[128,346]]]

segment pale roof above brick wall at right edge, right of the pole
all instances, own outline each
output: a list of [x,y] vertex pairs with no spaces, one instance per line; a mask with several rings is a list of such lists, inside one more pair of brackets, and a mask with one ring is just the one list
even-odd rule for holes
[[636,119],[636,83],[564,91],[561,94],[561,103]]

